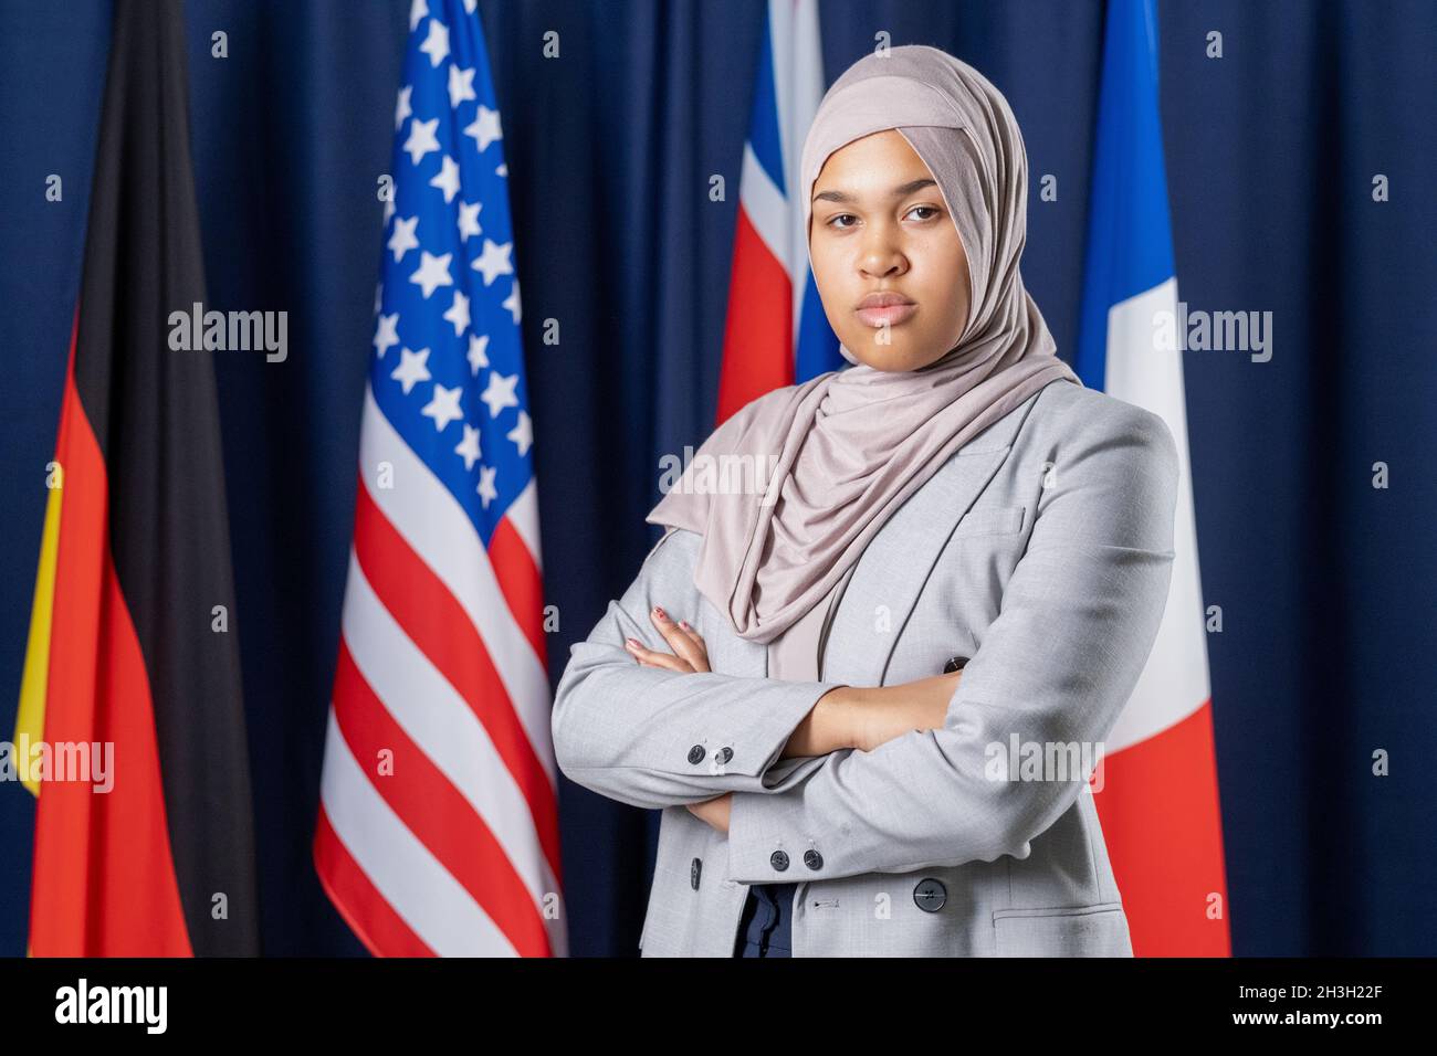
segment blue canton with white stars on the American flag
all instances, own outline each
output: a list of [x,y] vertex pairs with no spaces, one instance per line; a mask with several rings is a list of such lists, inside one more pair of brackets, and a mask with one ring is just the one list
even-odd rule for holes
[[410,22],[371,384],[487,543],[533,444],[499,109],[476,19]]

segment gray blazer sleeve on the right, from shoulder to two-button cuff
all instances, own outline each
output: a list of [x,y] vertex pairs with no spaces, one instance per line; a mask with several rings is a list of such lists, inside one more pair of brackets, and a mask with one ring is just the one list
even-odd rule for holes
[[1073,805],[1085,774],[1007,780],[1012,738],[1045,757],[1050,746],[1098,747],[1152,648],[1174,559],[1173,435],[1141,408],[1122,404],[1115,417],[1055,445],[1029,545],[944,726],[832,753],[779,795],[734,796],[729,879],[1027,858]]

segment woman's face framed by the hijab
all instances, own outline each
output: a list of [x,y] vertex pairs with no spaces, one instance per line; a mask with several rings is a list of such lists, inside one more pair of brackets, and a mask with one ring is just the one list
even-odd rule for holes
[[[809,251],[823,313],[859,362],[917,371],[958,343],[969,259],[933,172],[897,129],[829,155],[813,184]],[[865,306],[878,293],[905,303]]]

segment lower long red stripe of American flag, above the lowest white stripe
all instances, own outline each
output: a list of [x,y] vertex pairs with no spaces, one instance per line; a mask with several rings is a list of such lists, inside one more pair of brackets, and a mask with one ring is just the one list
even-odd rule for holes
[[[535,898],[514,872],[504,848],[494,839],[484,816],[394,721],[339,642],[335,671],[335,721],[365,776],[399,816],[414,838],[430,849],[444,869],[489,914],[510,945],[523,957],[549,957],[549,935]],[[388,751],[394,777],[375,777],[369,760]]]

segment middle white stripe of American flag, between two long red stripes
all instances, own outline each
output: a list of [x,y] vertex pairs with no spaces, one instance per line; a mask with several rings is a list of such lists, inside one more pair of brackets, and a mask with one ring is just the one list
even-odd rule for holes
[[545,862],[529,803],[473,708],[384,608],[354,553],[345,588],[343,635],[365,682],[483,816],[542,912],[545,894],[559,885]]

